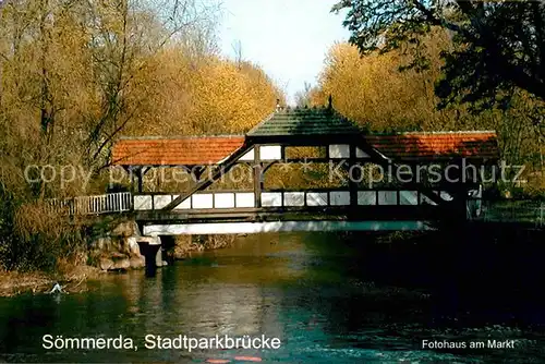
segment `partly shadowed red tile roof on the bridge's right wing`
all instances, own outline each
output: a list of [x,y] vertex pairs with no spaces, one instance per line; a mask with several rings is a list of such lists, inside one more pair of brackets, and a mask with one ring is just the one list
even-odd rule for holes
[[404,133],[366,135],[365,139],[391,159],[422,160],[465,157],[497,159],[499,149],[495,132]]

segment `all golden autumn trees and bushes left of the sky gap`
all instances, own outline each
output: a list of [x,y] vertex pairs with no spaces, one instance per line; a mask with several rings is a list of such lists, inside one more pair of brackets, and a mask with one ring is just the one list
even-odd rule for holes
[[[218,54],[219,12],[195,0],[0,1],[0,269],[74,252],[81,227],[39,211],[104,193],[119,137],[242,133],[283,100],[257,65]],[[46,183],[28,166],[81,175]]]

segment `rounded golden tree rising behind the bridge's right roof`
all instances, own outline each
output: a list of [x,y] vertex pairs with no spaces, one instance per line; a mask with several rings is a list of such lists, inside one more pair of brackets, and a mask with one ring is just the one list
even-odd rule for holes
[[[440,74],[439,53],[448,46],[441,32],[420,39],[429,59],[427,70],[399,72],[409,57],[396,50],[360,57],[355,46],[338,44],[327,53],[318,77],[313,105],[326,105],[332,95],[334,106],[349,119],[371,131],[463,130],[473,125],[463,110],[436,110],[434,80]],[[485,121],[485,117],[481,117]],[[487,129],[485,125],[480,128]]]

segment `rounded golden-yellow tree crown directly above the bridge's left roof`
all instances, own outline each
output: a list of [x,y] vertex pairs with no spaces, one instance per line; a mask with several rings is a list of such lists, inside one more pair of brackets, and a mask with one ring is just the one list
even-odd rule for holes
[[263,70],[207,54],[195,59],[171,48],[153,61],[155,93],[124,135],[240,134],[274,111],[283,96]]

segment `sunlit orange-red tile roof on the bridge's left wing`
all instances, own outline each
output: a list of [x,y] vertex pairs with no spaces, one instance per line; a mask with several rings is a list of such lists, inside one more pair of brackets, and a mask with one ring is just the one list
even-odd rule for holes
[[244,143],[244,136],[121,139],[113,146],[117,166],[215,165]]

